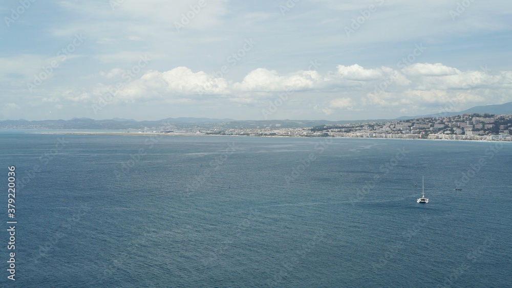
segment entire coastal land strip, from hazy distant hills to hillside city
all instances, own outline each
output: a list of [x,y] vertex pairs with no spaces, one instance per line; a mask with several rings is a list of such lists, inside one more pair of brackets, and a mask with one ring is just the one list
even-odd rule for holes
[[129,119],[4,120],[0,128],[30,129],[51,134],[116,134],[166,136],[348,137],[439,140],[512,141],[512,114],[465,113],[414,119],[233,120],[167,118],[160,121]]

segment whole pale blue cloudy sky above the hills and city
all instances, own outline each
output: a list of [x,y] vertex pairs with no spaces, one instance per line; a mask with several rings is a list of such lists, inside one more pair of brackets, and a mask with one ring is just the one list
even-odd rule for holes
[[357,120],[512,101],[508,0],[0,4],[0,120]]

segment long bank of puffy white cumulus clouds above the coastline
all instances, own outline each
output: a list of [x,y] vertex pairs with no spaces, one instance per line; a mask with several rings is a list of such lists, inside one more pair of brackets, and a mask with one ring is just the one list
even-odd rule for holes
[[[301,70],[288,74],[259,68],[249,72],[240,82],[213,77],[203,71],[194,72],[187,67],[177,67],[164,72],[148,71],[140,78],[123,85],[116,92],[114,102],[131,103],[160,99],[200,105],[204,103],[202,101],[214,97],[221,101],[219,103],[228,101],[241,105],[265,105],[268,99],[275,99],[280,93],[289,91],[292,94],[283,105],[314,101],[322,103],[313,105],[316,112],[332,115],[342,110],[357,111],[372,107],[396,107],[398,110],[418,111],[418,114],[424,110],[427,113],[428,109],[437,109],[456,97],[461,97],[457,102],[461,108],[472,103],[482,104],[485,101],[512,101],[511,94],[506,93],[512,92],[512,80],[509,79],[512,72],[508,71],[491,75],[485,71],[460,72],[442,64],[424,63],[412,68],[421,73],[409,73],[409,77],[406,77],[400,70],[389,67],[364,69],[354,64],[338,65],[336,68],[334,72]],[[445,75],[449,74],[447,72],[455,74]],[[114,77],[119,73],[122,73],[122,70],[114,69],[103,76]],[[359,84],[347,84],[354,81]],[[380,93],[375,93],[374,88],[386,81],[389,83],[387,87]],[[468,83],[471,85],[468,86]],[[95,97],[100,97],[107,87],[99,85],[92,93],[72,94],[66,97],[72,101],[91,101]],[[493,91],[500,93],[493,95]],[[337,94],[334,99],[333,93]],[[315,96],[318,94],[321,96]]]

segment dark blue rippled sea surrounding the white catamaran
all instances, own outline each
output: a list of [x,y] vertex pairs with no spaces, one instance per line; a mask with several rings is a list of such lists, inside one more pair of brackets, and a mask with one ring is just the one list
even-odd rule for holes
[[0,286],[512,286],[511,143],[34,132]]

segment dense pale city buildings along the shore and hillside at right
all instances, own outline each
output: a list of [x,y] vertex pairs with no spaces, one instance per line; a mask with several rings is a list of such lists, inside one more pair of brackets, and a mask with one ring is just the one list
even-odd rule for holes
[[364,122],[303,128],[281,128],[281,124],[270,124],[266,127],[251,129],[223,129],[219,127],[208,131],[196,130],[195,134],[512,141],[512,115],[462,114],[440,118],[416,118],[401,121]]

